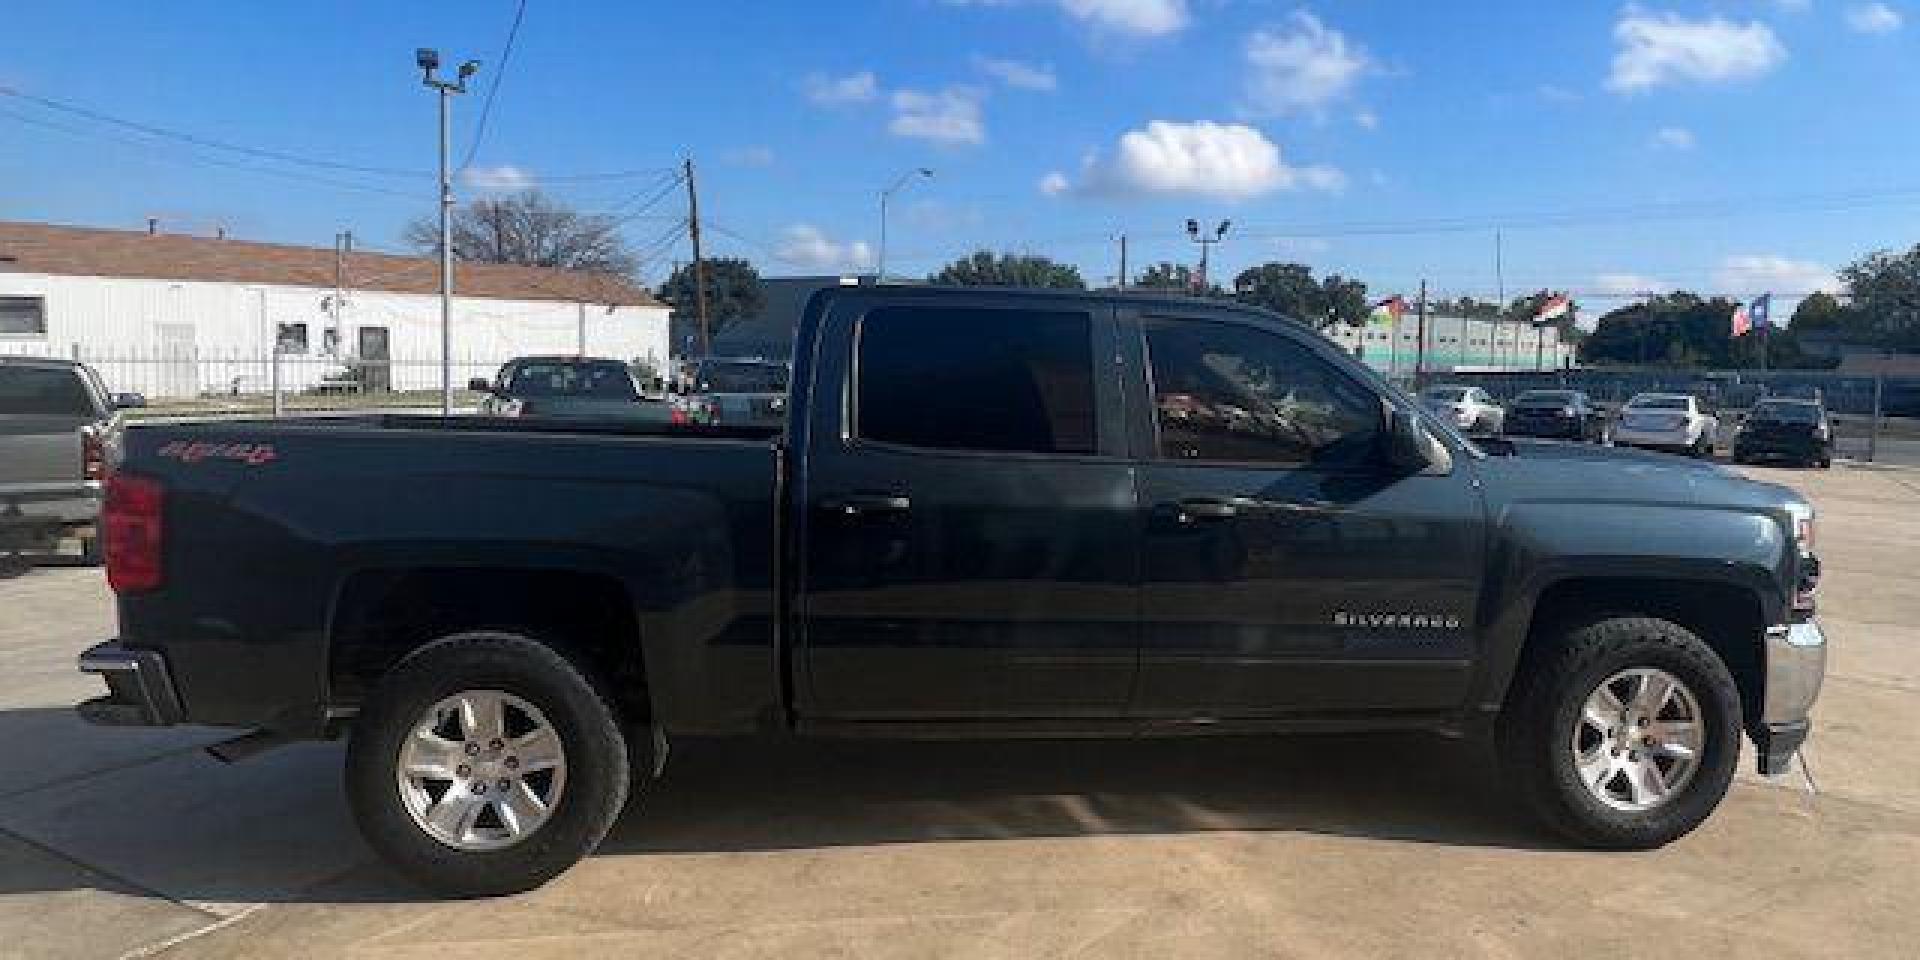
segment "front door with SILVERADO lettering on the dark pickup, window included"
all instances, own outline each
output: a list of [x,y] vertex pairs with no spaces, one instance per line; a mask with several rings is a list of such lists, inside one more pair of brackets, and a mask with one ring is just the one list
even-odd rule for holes
[[1471,467],[1390,467],[1382,396],[1309,332],[1233,315],[1137,328],[1139,714],[1459,703],[1482,566]]

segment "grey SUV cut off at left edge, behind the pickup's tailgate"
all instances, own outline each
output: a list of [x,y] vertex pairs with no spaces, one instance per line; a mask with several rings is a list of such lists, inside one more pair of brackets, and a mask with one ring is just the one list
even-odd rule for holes
[[0,553],[79,538],[100,559],[100,476],[121,409],[138,394],[109,394],[92,367],[0,357]]

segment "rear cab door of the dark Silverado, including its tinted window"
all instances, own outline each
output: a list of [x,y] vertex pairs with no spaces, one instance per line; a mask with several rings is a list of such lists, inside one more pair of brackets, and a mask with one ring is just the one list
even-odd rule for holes
[[793,492],[803,718],[1123,718],[1139,515],[1112,307],[824,309]]

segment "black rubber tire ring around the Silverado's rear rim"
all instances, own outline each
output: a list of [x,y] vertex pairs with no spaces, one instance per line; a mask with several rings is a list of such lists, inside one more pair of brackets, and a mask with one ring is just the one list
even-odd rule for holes
[[[538,707],[566,756],[564,791],[538,829],[497,851],[440,843],[396,785],[401,743],[432,705],[499,689]],[[348,743],[348,801],[361,833],[396,870],[453,897],[522,893],[580,862],[607,835],[628,793],[618,716],[586,674],[545,643],[507,632],[442,637],[390,670],[361,707]]]

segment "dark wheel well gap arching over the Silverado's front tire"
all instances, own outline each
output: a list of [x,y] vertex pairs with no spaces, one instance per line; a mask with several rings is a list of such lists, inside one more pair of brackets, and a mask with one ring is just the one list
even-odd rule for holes
[[1603,616],[1657,616],[1684,626],[1726,662],[1740,685],[1741,712],[1749,720],[1761,716],[1766,624],[1761,599],[1751,589],[1711,580],[1563,580],[1534,605],[1521,668],[1567,630]]

